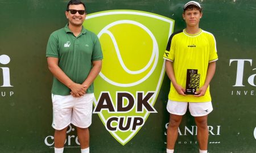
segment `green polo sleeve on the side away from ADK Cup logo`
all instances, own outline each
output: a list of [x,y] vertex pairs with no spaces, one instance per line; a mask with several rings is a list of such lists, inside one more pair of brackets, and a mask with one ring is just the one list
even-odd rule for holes
[[53,33],[49,36],[49,40],[46,47],[46,57],[56,57],[59,58],[58,52],[58,39]]

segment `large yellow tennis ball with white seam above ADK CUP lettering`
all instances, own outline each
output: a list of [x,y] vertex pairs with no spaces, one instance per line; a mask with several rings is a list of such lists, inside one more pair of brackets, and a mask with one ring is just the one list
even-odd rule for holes
[[158,63],[158,44],[152,32],[132,20],[118,20],[100,33],[104,61],[100,76],[108,83],[130,87],[142,83]]

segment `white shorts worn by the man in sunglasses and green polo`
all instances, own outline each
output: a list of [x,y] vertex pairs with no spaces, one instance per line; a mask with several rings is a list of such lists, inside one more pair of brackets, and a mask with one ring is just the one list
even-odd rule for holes
[[52,127],[62,130],[73,124],[79,128],[88,128],[92,124],[93,100],[94,94],[85,94],[81,97],[52,94]]

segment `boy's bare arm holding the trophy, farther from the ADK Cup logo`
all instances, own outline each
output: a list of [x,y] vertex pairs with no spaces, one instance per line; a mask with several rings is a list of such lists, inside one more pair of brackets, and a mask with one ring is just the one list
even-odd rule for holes
[[199,95],[195,95],[196,97],[204,96],[204,94],[207,91],[207,88],[208,88],[208,86],[210,84],[210,81],[213,78],[213,75],[215,73],[215,69],[216,69],[216,61],[210,62],[208,64],[207,76],[205,78],[204,86],[202,86],[199,89],[199,91],[195,93],[195,94],[199,94]]

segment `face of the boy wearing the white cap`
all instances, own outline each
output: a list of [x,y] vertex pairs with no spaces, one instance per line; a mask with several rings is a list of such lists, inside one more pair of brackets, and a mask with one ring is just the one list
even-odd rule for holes
[[193,8],[193,10],[185,10],[185,12],[182,14],[183,19],[189,27],[198,26],[202,15],[203,14],[196,8]]

